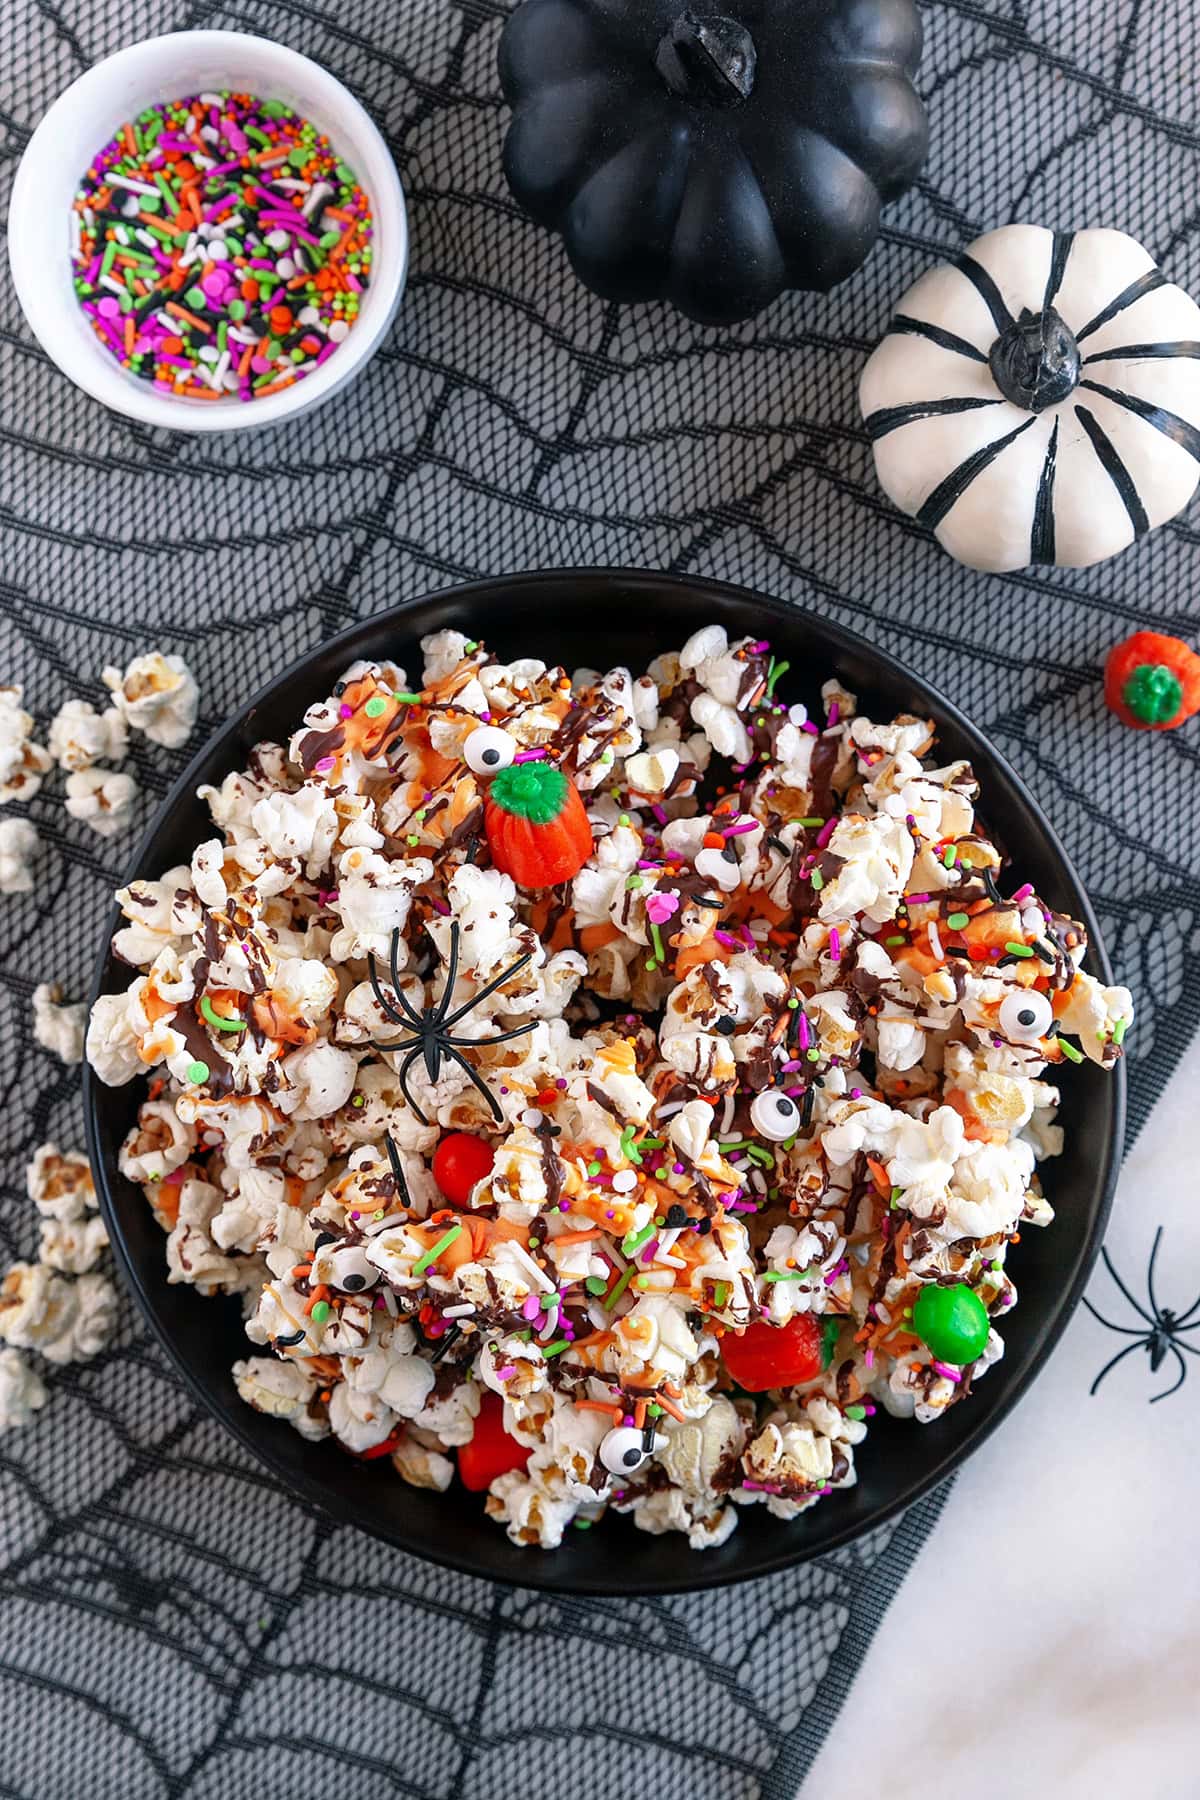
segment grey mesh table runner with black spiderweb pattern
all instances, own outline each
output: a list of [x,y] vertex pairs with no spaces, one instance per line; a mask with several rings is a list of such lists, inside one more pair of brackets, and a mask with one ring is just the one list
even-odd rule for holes
[[[918,191],[856,279],[732,331],[604,306],[518,214],[493,0],[5,0],[2,16],[5,198],[81,67],[214,25],[282,38],[349,83],[401,164],[414,232],[369,374],[252,439],[108,418],[0,286],[0,680],[25,682],[41,734],[68,695],[103,698],[106,662],[162,648],[200,679],[194,747],[349,621],[495,571],[685,569],[826,608],[939,682],[1054,815],[1137,990],[1144,1121],[1200,1010],[1196,736],[1119,731],[1099,671],[1135,625],[1195,634],[1196,515],[1085,574],[972,574],[882,500],[855,383],[918,270],[1007,220],[1123,227],[1200,292],[1186,5],[932,0]],[[133,740],[139,828],[180,761]],[[5,1260],[36,1240],[27,1157],[81,1143],[77,1071],[32,1046],[31,992],[85,994],[133,842],[68,821],[61,778],[29,810],[38,887],[0,902]],[[54,1372],[36,1424],[0,1440],[0,1789],[22,1800],[516,1800],[561,1782],[786,1800],[939,1507],[741,1589],[493,1591],[277,1492],[131,1301],[117,1346]]]

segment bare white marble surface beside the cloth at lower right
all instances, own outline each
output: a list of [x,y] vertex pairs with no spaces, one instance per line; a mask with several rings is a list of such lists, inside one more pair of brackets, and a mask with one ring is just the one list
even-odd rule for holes
[[[1200,1040],[1123,1170],[1106,1246],[1144,1303],[1200,1292]],[[1052,1226],[1051,1226],[1052,1229]],[[1097,1265],[1088,1298],[1128,1303]],[[804,1784],[804,1800],[1200,1796],[1200,1355],[1150,1373],[1083,1309],[961,1472]],[[1189,1334],[1200,1348],[1200,1330]]]

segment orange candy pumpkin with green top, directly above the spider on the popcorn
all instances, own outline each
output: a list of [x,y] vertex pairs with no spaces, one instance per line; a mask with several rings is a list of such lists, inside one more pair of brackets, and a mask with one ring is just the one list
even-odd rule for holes
[[500,769],[488,788],[484,830],[491,860],[518,887],[556,887],[592,855],[579,790],[551,761]]

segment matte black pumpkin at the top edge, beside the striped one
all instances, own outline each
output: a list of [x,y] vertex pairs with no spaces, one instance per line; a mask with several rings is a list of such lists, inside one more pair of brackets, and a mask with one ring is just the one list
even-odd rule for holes
[[525,0],[504,171],[604,299],[703,324],[824,292],[927,146],[912,0]]

